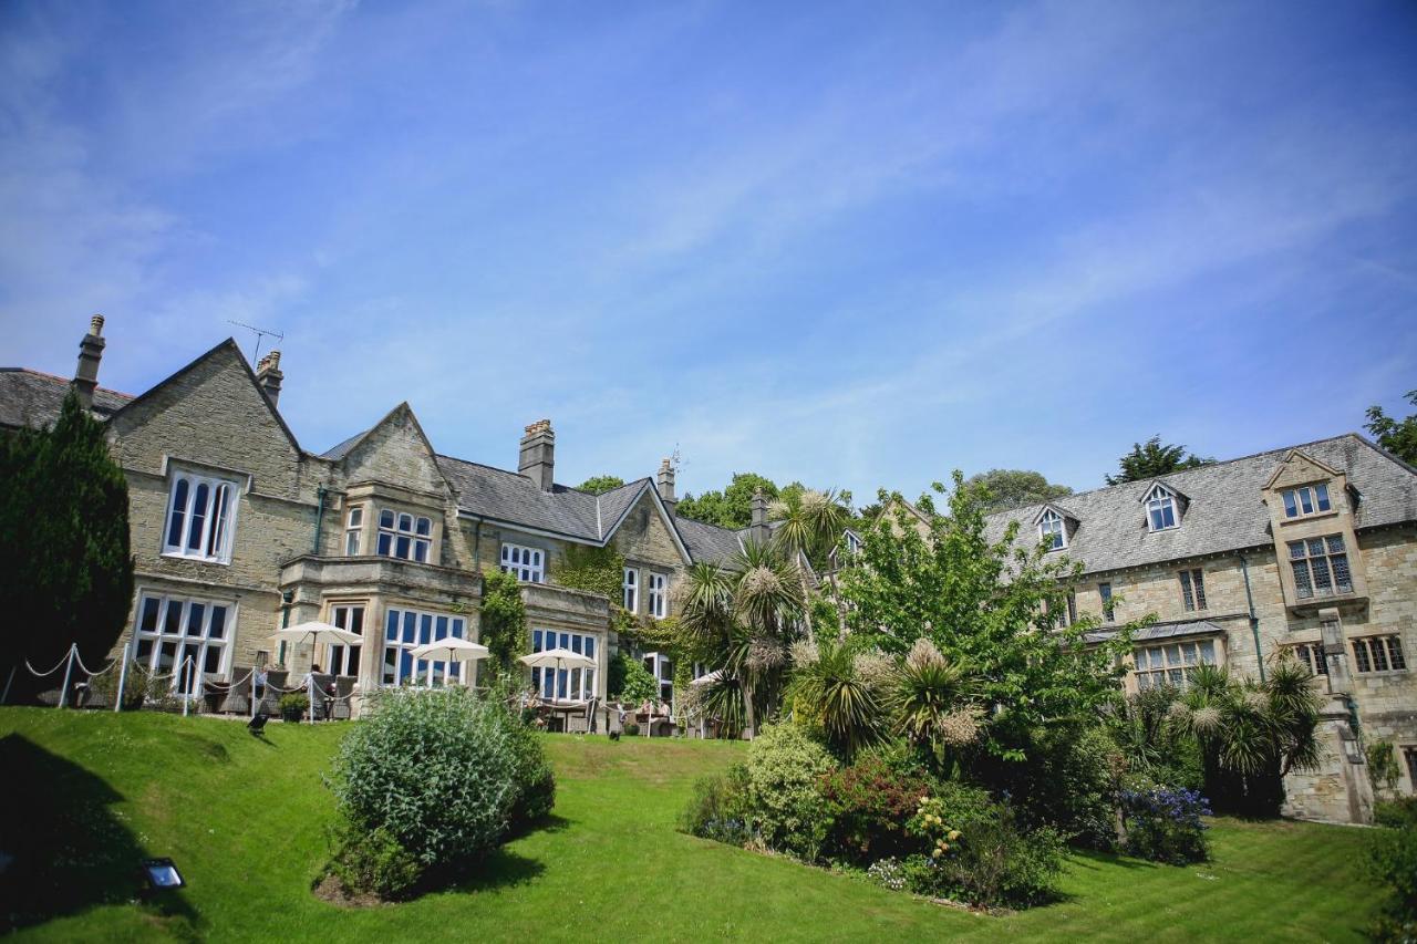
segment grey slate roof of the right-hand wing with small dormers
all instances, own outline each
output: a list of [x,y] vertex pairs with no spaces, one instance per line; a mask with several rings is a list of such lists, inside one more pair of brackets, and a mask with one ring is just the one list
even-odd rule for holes
[[[1050,505],[1078,522],[1063,553],[1083,561],[1088,573],[1100,573],[1271,544],[1270,512],[1260,500],[1260,489],[1291,449],[1348,475],[1348,483],[1357,489],[1360,499],[1353,522],[1356,529],[1417,520],[1417,469],[1349,432],[1172,472],[1159,479],[1053,499]],[[1141,499],[1158,481],[1189,499],[1180,527],[1146,529]],[[1032,540],[1037,534],[1033,522],[1041,507],[1030,505],[990,515],[990,540],[1003,537],[1010,520],[1020,523],[1022,540]]]

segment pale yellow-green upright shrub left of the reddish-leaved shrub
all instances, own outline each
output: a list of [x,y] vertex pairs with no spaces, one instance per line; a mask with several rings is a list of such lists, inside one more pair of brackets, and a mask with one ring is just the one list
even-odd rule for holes
[[748,829],[765,846],[816,859],[830,815],[820,791],[836,767],[826,748],[792,724],[772,724],[748,747]]

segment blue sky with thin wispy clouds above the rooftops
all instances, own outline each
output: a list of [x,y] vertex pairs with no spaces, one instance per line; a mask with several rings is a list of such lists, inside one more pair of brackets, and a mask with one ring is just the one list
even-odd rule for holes
[[1406,3],[0,7],[0,363],[285,333],[560,481],[917,493],[1234,456],[1417,387]]

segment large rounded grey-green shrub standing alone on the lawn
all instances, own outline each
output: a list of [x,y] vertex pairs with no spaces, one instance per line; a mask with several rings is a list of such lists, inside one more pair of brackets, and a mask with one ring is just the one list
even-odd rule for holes
[[332,790],[350,824],[383,829],[424,867],[504,835],[521,740],[502,704],[466,689],[385,689],[340,743]]

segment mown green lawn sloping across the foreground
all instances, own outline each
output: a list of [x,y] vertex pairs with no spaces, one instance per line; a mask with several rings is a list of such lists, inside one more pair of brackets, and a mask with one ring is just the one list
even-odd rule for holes
[[[1359,940],[1376,904],[1359,870],[1365,831],[1220,821],[1204,866],[1076,856],[1063,901],[969,914],[677,833],[693,780],[741,746],[550,736],[554,822],[463,887],[341,910],[309,887],[333,812],[320,771],[343,730],[272,724],[259,741],[217,719],[0,709],[0,850],[40,836],[62,873],[60,892],[24,893],[45,918],[20,937],[1318,941]],[[188,887],[160,906],[128,900],[143,855],[176,859]]]

